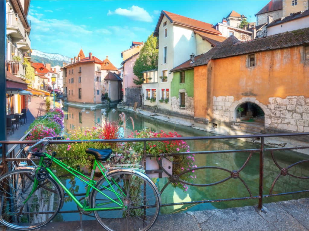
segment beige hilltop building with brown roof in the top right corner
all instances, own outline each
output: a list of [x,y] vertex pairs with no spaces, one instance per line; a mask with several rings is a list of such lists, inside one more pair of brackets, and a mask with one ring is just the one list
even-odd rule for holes
[[256,16],[256,26],[267,21],[268,16],[272,16],[273,21],[295,14],[300,11],[308,10],[308,1],[303,0],[271,0],[263,7]]

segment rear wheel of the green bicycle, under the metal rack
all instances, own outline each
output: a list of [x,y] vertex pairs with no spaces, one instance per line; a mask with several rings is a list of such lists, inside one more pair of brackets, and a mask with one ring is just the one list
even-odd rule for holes
[[[97,221],[107,230],[148,230],[160,211],[155,184],[139,172],[120,170],[99,180],[91,196]],[[115,193],[116,192],[116,193]]]

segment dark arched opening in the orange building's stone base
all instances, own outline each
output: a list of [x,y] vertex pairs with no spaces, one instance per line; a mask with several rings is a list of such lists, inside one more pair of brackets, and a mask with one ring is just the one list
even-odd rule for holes
[[240,104],[236,109],[237,122],[256,122],[262,123],[265,122],[265,113],[260,106],[252,102],[246,102]]

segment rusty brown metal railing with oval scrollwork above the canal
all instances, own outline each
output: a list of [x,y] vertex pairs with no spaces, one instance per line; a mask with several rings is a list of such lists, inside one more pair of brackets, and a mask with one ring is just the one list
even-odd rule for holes
[[[168,182],[164,185],[164,187],[161,189],[161,195],[163,195],[164,190],[166,187],[171,184],[171,183],[182,183],[190,186],[196,186],[196,187],[210,187],[213,185],[217,184],[222,184],[223,182],[226,182],[227,180],[230,179],[239,179],[243,185],[245,186],[246,189],[244,189],[246,192],[248,191],[249,196],[248,197],[234,197],[234,198],[225,198],[225,199],[212,199],[212,200],[201,200],[201,201],[195,201],[194,198],[191,198],[192,201],[190,202],[181,202],[181,203],[170,203],[170,204],[163,204],[161,205],[162,207],[165,206],[174,206],[174,205],[190,205],[190,204],[201,204],[201,203],[210,203],[210,202],[220,202],[220,201],[238,201],[238,200],[248,200],[248,199],[259,199],[259,209],[263,209],[263,198],[266,197],[274,197],[274,196],[282,196],[282,195],[289,195],[289,194],[296,194],[296,193],[306,193],[309,192],[309,188],[306,190],[299,190],[299,191],[293,191],[293,192],[283,192],[283,193],[273,193],[273,188],[274,185],[277,183],[278,179],[282,176],[290,176],[298,179],[309,179],[309,176],[307,177],[302,177],[302,176],[295,176],[289,172],[290,168],[297,166],[299,164],[303,164],[306,162],[309,162],[309,160],[302,160],[298,161],[296,163],[291,164],[289,167],[282,168],[275,156],[273,155],[274,151],[281,151],[281,150],[296,150],[296,149],[308,149],[308,147],[293,147],[293,148],[265,148],[264,147],[264,138],[265,137],[285,137],[285,136],[309,136],[309,132],[307,133],[285,133],[285,134],[259,134],[259,135],[241,135],[241,136],[200,136],[200,137],[176,137],[176,138],[143,138],[143,139],[119,139],[119,140],[54,140],[51,141],[50,144],[70,144],[70,143],[82,143],[82,142],[103,142],[103,143],[133,143],[133,142],[143,142],[144,143],[144,152],[143,152],[143,157],[144,157],[144,170],[146,171],[146,174],[148,173],[159,173],[161,175],[163,172],[168,175]],[[162,153],[160,154],[160,160],[157,160],[157,163],[159,164],[160,168],[159,169],[146,169],[146,157],[153,157],[154,155],[150,155],[146,153],[146,147],[149,142],[160,142],[160,141],[174,141],[174,140],[183,140],[183,141],[190,141],[190,140],[226,140],[226,139],[241,139],[241,138],[256,138],[257,140],[260,140],[260,148],[254,148],[254,149],[240,149],[240,150],[219,150],[219,151],[199,151],[199,152],[180,152],[180,153]],[[26,144],[35,144],[36,141],[0,141],[2,144],[15,144],[15,145],[20,145],[23,147]],[[6,153],[5,150],[6,145],[2,145],[2,153]],[[0,169],[2,169],[2,174],[6,173],[8,168],[8,164],[12,164],[15,161],[24,161],[27,160],[25,158],[16,158],[19,156],[19,153],[13,154],[12,149],[10,149],[9,152],[6,153],[6,155],[2,156],[2,165],[0,165]],[[243,163],[243,165],[239,169],[227,169],[223,167],[215,167],[215,166],[203,166],[203,167],[197,167],[194,168],[194,171],[199,171],[201,169],[218,169],[222,170],[225,172],[228,172],[230,176],[226,177],[223,180],[220,180],[218,182],[210,183],[210,184],[195,184],[186,182],[181,180],[181,176],[188,173],[192,172],[192,169],[184,170],[183,172],[179,173],[178,175],[171,175],[167,169],[164,168],[164,164],[162,164],[162,159],[165,156],[186,156],[186,155],[201,155],[201,154],[219,154],[219,153],[235,153],[235,152],[248,152],[248,158],[247,160]],[[254,152],[259,152],[259,185],[255,186],[255,188],[259,189],[258,195],[253,195],[248,184],[243,180],[241,177],[242,170],[247,167],[247,164],[252,161],[251,157]],[[263,186],[264,186],[264,153],[265,152],[270,152],[274,164],[278,168],[277,172],[277,177],[273,177],[273,184],[270,189],[270,192],[264,193],[263,191]],[[8,157],[7,157],[8,156]],[[299,171],[298,171],[299,172]],[[162,175],[161,175],[162,176]],[[236,182],[236,181],[233,181]],[[65,211],[65,213],[69,212],[78,212],[77,210],[75,211]]]

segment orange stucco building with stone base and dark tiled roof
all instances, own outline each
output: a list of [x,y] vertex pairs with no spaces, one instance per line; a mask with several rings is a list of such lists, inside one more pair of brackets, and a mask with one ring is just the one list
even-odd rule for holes
[[229,132],[250,102],[263,110],[265,132],[309,132],[309,28],[247,42],[230,36],[193,66],[197,127]]

